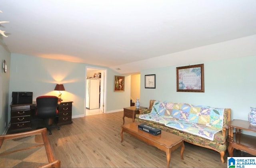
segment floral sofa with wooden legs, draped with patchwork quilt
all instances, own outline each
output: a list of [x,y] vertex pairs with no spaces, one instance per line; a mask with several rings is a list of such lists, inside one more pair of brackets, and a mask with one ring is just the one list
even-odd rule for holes
[[135,121],[171,132],[184,141],[220,153],[224,163],[231,109],[150,100]]

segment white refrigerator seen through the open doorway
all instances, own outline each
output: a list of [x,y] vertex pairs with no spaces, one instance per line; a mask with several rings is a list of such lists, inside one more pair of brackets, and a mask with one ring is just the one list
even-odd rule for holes
[[86,79],[86,109],[100,108],[100,80]]

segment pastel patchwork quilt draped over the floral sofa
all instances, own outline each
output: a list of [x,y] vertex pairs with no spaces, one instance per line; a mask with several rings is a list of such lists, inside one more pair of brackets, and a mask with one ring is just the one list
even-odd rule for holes
[[188,103],[155,101],[149,114],[139,119],[154,121],[203,138],[214,140],[222,130],[224,109]]

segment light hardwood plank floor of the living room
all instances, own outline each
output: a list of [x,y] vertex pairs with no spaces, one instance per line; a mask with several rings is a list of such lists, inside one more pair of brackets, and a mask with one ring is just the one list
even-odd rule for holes
[[[166,167],[166,154],[154,146],[124,132],[121,143],[120,129],[123,112],[102,113],[72,119],[70,125],[52,129],[48,134],[55,159],[61,167],[114,167],[153,168]],[[125,118],[125,124],[132,119]],[[234,150],[234,156],[237,154]],[[214,150],[185,143],[184,160],[180,148],[172,152],[170,168],[214,167],[226,168],[220,161],[220,154]]]

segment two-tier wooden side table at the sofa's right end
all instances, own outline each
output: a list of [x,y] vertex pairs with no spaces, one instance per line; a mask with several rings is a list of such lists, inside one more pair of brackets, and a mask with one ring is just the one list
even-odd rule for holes
[[[250,125],[249,121],[233,120],[228,123],[230,127],[228,132],[228,154],[233,156],[233,150],[238,149],[249,154],[256,155],[256,136],[241,134],[241,130],[256,132],[256,126]],[[236,132],[233,133],[233,128]]]

